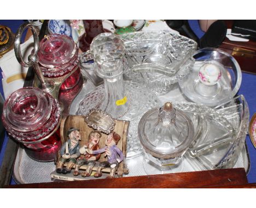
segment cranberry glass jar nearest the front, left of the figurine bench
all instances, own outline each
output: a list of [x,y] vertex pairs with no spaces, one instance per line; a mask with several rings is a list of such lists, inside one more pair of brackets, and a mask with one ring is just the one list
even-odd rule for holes
[[55,160],[61,145],[61,108],[49,93],[33,87],[14,91],[4,103],[2,121],[33,160]]

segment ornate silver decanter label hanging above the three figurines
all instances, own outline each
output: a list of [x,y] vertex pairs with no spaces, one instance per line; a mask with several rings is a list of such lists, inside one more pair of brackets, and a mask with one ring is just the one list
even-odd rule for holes
[[88,124],[88,126],[92,127],[92,129],[107,134],[113,131],[115,126],[115,120],[111,117],[111,115],[101,111],[101,109],[95,108],[90,110],[84,121]]

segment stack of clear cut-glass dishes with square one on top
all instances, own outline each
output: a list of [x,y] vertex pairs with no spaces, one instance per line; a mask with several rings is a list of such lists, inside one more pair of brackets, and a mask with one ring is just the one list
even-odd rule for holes
[[179,34],[144,31],[126,33],[121,39],[128,64],[125,78],[146,84],[158,95],[170,91],[195,62],[196,42]]

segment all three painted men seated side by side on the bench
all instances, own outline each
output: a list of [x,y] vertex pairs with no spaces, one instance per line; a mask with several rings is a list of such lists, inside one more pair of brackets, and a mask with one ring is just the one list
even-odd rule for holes
[[[106,146],[103,148],[100,148],[98,145],[102,137],[100,131],[91,131],[88,143],[82,147],[79,146],[81,136],[78,129],[71,127],[67,132],[67,137],[67,142],[63,143],[61,146],[61,157],[56,167],[57,173],[71,173],[71,169],[74,167],[73,175],[78,176],[80,174],[79,168],[86,165],[86,171],[81,173],[81,175],[83,177],[89,177],[96,161],[100,159],[101,154],[104,154],[104,157],[107,157],[107,161],[99,162],[94,177],[101,177],[102,169],[110,168],[110,174],[107,178],[114,178],[119,163],[122,162],[124,158],[123,152],[117,147],[121,138],[118,133],[114,131],[109,133],[105,142]],[[65,163],[67,163],[67,166],[64,168]]]

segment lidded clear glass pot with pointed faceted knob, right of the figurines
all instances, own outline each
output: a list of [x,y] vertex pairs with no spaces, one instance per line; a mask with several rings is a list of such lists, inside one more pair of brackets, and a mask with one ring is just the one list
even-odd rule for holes
[[166,102],[143,115],[138,136],[151,162],[160,167],[171,166],[181,161],[193,142],[194,125],[188,115]]

